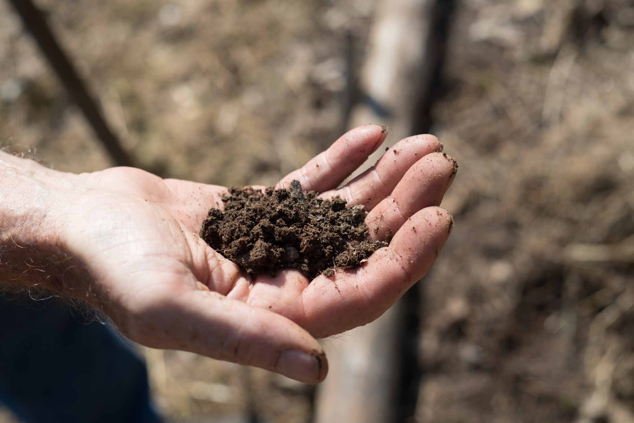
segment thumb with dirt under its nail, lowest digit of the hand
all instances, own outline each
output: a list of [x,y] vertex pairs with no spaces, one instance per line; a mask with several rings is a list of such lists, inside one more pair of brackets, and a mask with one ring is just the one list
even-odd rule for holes
[[261,367],[308,384],[323,381],[328,373],[320,344],[299,325],[212,291],[164,296],[127,323],[127,335],[152,348]]

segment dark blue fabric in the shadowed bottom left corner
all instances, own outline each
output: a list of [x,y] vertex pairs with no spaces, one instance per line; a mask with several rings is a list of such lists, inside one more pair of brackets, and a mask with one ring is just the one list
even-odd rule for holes
[[55,299],[0,297],[0,402],[27,423],[158,423],[145,363]]

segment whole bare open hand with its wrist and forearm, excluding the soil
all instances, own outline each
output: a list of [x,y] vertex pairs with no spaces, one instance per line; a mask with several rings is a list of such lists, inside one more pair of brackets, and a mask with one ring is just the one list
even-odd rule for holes
[[453,225],[437,206],[455,166],[433,136],[399,141],[337,188],[385,136],[353,129],[277,185],[299,179],[363,204],[370,238],[394,233],[366,263],[313,281],[293,270],[252,278],[198,237],[223,186],[126,167],[68,174],[0,153],[0,283],[91,304],[139,344],[321,382],[328,362],[316,338],[382,315],[427,273]]

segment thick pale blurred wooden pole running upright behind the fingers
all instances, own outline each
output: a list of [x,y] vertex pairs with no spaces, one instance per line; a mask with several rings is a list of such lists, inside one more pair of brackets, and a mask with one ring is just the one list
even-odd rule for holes
[[[365,100],[353,108],[349,126],[386,124],[386,145],[393,145],[413,131],[429,131],[447,37],[443,16],[450,15],[455,1],[377,3],[359,86]],[[384,152],[380,148],[356,174]],[[416,286],[405,296],[375,322],[325,343],[330,374],[317,388],[316,423],[402,422],[415,413],[420,370],[415,351],[408,349],[417,329],[405,327],[421,296]]]

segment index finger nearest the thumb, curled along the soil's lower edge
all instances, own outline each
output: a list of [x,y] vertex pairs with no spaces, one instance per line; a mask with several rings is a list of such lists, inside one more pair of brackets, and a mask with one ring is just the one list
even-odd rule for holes
[[388,247],[358,269],[317,277],[302,293],[304,315],[294,319],[317,337],[370,323],[385,313],[436,261],[453,218],[441,207],[427,207],[401,226]]

